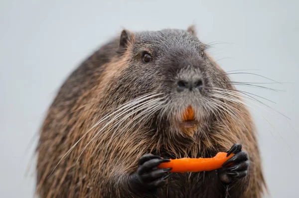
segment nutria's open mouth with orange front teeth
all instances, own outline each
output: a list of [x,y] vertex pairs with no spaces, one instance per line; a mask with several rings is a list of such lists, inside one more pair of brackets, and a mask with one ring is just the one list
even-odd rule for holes
[[196,130],[199,122],[195,120],[194,110],[189,105],[182,116],[182,122],[179,123],[179,127],[187,135],[192,135]]

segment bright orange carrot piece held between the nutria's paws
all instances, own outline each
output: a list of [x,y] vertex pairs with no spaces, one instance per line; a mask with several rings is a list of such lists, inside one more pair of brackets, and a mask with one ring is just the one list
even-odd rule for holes
[[213,171],[220,169],[228,159],[234,154],[226,157],[227,153],[219,152],[213,158],[181,158],[171,159],[170,162],[161,163],[158,168],[172,168],[169,172],[185,173],[185,172],[201,172]]

